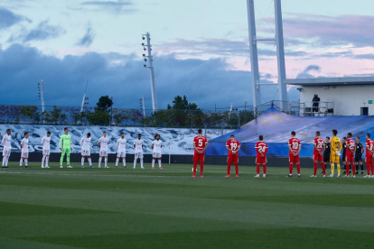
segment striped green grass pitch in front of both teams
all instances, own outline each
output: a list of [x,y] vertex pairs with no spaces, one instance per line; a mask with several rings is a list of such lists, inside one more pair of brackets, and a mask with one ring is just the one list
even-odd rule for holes
[[[286,168],[0,171],[0,248],[370,248],[374,179],[286,179]],[[321,170],[319,170],[321,171]],[[330,171],[328,171],[329,173]],[[234,175],[232,171],[232,176]]]

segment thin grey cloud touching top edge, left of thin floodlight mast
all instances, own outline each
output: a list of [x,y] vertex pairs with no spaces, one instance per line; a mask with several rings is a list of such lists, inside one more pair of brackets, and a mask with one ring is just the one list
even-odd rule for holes
[[113,13],[134,13],[136,9],[133,7],[133,3],[128,1],[88,1],[83,2],[80,5],[89,7],[89,10],[93,11],[109,11]]

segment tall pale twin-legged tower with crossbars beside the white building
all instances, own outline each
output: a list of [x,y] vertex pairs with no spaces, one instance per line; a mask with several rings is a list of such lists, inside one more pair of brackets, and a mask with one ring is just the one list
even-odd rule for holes
[[[274,0],[274,8],[276,11],[276,37],[258,39],[256,34],[256,20],[255,20],[255,0],[247,0],[248,11],[248,35],[249,35],[249,50],[250,61],[252,70],[252,95],[253,106],[255,108],[255,115],[257,115],[257,106],[261,105],[261,88],[260,86],[278,86],[279,100],[281,101],[284,110],[287,110],[287,88],[285,85],[285,48],[283,39],[283,23],[282,23],[282,6],[281,0]],[[273,83],[260,83],[258,72],[258,55],[257,55],[257,42],[276,42],[276,57],[278,66],[278,82]]]

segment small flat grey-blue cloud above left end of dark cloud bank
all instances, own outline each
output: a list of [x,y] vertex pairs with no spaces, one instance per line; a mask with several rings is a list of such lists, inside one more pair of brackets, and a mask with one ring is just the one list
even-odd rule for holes
[[20,35],[12,35],[8,42],[31,42],[31,41],[42,41],[61,36],[65,33],[65,30],[61,26],[53,26],[48,21],[42,21],[34,29],[29,32],[24,32]]

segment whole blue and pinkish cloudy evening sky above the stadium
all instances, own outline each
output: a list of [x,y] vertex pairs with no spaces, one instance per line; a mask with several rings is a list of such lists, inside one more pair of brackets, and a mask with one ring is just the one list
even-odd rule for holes
[[[274,38],[272,0],[255,0],[257,37]],[[374,2],[283,0],[287,78],[373,76]],[[0,0],[0,105],[152,108],[141,43],[151,33],[160,109],[185,95],[203,109],[252,103],[246,0]],[[258,43],[261,82],[276,82],[274,42]],[[277,99],[262,87],[262,102]],[[299,100],[295,88],[288,99]]]

